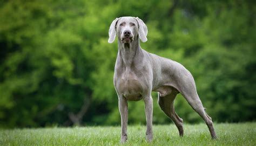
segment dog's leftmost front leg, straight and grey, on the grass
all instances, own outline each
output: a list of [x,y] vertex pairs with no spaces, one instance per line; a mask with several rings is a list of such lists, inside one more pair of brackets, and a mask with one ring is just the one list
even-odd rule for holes
[[118,107],[121,115],[122,134],[120,143],[124,143],[127,140],[127,121],[128,121],[128,103],[122,95],[118,96]]

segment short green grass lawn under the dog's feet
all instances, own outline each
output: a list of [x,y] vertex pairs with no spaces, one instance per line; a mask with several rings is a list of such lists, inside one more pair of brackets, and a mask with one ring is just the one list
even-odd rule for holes
[[[184,124],[178,136],[174,124],[153,126],[153,142],[145,141],[145,126],[128,126],[124,145],[256,145],[256,122],[215,124],[212,140],[206,124]],[[0,145],[119,145],[120,126],[0,130]]]

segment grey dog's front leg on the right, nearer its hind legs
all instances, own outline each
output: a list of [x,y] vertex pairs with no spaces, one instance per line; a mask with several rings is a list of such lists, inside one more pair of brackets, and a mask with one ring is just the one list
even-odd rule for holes
[[153,132],[152,132],[153,100],[151,95],[144,98],[144,102],[145,102],[145,113],[146,113],[146,121],[147,121],[146,140],[148,142],[151,142],[153,139]]

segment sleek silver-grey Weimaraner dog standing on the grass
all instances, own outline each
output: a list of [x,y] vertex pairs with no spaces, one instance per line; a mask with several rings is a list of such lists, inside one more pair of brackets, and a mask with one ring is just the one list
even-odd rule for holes
[[138,17],[116,18],[110,25],[109,43],[113,43],[116,35],[118,54],[114,67],[114,87],[118,94],[122,120],[120,142],[127,140],[127,101],[142,99],[146,113],[146,140],[152,141],[152,91],[158,92],[158,104],[176,124],[180,136],[183,136],[183,120],[176,114],[173,106],[178,93],[204,119],[212,138],[217,138],[212,119],[204,110],[191,73],[178,62],[151,54],[140,47],[139,39],[147,41],[147,26],[144,22]]

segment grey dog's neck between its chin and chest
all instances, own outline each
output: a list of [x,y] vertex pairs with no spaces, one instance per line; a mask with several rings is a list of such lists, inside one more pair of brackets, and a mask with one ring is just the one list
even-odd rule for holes
[[128,71],[131,69],[132,62],[136,59],[136,54],[140,53],[141,50],[139,37],[134,38],[131,43],[122,43],[118,39],[118,55]]

